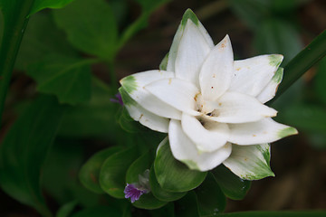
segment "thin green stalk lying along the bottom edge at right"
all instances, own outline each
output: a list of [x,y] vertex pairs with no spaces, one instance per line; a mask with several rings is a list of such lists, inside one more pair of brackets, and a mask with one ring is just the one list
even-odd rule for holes
[[217,214],[216,216],[218,217],[308,217],[308,216],[323,217],[326,216],[326,211],[248,211],[248,212],[221,213],[221,214]]

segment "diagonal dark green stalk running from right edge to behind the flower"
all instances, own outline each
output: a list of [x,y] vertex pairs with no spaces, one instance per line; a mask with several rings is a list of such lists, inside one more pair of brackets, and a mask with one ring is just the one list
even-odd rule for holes
[[283,80],[276,92],[275,97],[268,104],[272,104],[285,90],[298,80],[304,72],[308,71],[316,62],[326,55],[326,31],[318,35],[302,52],[299,52],[284,67]]

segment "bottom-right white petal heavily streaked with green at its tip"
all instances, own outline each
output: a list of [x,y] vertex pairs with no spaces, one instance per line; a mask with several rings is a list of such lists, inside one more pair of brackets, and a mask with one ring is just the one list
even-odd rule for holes
[[232,145],[231,156],[223,164],[242,179],[258,180],[267,176],[274,176],[269,166],[270,158],[270,146],[268,144]]

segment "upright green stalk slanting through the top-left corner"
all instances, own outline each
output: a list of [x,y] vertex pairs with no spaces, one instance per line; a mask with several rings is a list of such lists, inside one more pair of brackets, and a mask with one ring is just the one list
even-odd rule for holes
[[[5,96],[14,69],[14,61],[28,23],[28,14],[34,0],[13,1],[12,8],[2,8],[5,28],[0,49],[0,122],[5,107]],[[5,9],[12,9],[7,10]]]

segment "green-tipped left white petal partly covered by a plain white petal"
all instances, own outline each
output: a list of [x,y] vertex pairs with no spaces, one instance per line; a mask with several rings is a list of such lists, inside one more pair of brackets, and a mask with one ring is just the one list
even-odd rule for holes
[[181,119],[181,112],[168,104],[154,97],[144,86],[155,80],[174,78],[174,73],[170,71],[144,71],[129,75],[120,80],[120,84],[129,96],[137,101],[143,108],[150,112],[164,117]]

